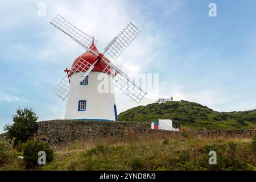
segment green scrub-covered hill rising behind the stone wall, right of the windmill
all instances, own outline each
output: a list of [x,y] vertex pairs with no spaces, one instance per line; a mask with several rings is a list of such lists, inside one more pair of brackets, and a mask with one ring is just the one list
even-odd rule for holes
[[256,110],[218,112],[195,102],[165,102],[133,107],[118,115],[119,121],[172,119],[176,127],[193,130],[235,130],[256,127]]

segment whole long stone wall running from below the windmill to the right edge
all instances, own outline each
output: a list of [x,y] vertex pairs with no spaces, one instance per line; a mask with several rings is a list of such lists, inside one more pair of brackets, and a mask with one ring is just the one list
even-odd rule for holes
[[163,131],[151,130],[150,122],[103,122],[103,121],[72,121],[52,120],[39,122],[38,137],[46,140],[51,146],[67,146],[76,141],[96,138],[113,139],[145,136],[184,137],[185,135],[202,137],[237,137],[251,138],[256,130],[232,131]]

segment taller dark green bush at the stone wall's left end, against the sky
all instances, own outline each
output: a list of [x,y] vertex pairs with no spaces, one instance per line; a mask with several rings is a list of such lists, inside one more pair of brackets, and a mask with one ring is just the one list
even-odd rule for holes
[[4,128],[7,131],[7,138],[14,138],[15,144],[19,141],[25,142],[38,130],[37,119],[38,117],[31,109],[18,109],[13,116],[13,125],[6,125]]

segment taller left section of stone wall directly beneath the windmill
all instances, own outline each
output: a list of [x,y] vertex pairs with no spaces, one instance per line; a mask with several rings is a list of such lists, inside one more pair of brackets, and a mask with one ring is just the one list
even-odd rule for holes
[[51,146],[64,146],[79,140],[142,135],[149,133],[150,127],[150,122],[52,120],[39,122],[37,135]]

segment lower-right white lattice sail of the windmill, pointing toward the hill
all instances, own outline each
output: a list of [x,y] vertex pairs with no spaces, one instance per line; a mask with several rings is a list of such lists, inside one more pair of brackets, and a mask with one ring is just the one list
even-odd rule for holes
[[134,82],[131,81],[124,73],[117,72],[114,67],[112,67],[111,63],[108,63],[102,73],[110,73],[110,75],[113,76],[114,85],[138,104],[147,94],[137,85],[135,85]]

